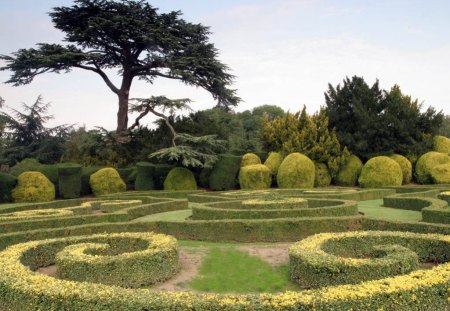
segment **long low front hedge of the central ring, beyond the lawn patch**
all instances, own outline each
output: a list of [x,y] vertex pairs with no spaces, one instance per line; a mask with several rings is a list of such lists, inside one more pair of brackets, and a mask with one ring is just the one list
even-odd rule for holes
[[[225,201],[192,206],[193,220],[217,219],[274,219],[295,217],[352,216],[358,214],[358,204],[354,201],[308,199],[308,207],[303,208],[248,208],[245,201]],[[282,205],[282,203],[280,203]]]

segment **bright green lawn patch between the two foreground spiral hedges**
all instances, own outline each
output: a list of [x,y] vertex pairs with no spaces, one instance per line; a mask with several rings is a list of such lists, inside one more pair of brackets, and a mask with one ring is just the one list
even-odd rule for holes
[[187,287],[215,293],[258,293],[296,290],[288,265],[269,263],[234,248],[211,248],[199,274]]

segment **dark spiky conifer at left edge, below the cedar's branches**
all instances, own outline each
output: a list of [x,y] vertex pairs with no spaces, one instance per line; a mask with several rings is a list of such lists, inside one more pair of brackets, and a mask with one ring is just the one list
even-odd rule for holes
[[64,141],[71,125],[47,128],[53,116],[48,115],[50,103],[39,96],[34,104],[22,104],[23,112],[11,109],[13,114],[0,112],[4,128],[2,162],[14,165],[25,158],[35,158],[41,163],[58,162],[64,152]]

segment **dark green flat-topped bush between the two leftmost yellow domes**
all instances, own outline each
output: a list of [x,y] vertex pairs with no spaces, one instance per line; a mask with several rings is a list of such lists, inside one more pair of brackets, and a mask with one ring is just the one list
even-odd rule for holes
[[65,163],[58,167],[59,195],[64,199],[79,198],[81,194],[82,167]]

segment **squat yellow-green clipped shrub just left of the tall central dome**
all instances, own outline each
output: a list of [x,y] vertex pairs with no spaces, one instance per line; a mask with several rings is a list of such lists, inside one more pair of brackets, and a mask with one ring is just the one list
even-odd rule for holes
[[270,169],[263,164],[247,165],[239,172],[241,189],[267,189],[271,182]]

